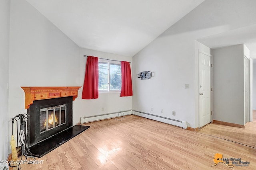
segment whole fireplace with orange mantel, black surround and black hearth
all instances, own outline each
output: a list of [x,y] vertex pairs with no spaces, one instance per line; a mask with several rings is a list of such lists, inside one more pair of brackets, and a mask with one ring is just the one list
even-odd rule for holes
[[41,158],[90,126],[72,126],[73,101],[80,87],[21,87],[28,112],[29,156]]

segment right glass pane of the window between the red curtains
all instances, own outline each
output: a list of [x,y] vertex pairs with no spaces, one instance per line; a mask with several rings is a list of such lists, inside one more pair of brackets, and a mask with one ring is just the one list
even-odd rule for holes
[[121,90],[121,65],[109,64],[110,90]]

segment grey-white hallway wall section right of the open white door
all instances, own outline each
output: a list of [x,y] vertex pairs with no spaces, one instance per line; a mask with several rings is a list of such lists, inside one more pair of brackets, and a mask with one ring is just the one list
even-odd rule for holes
[[244,45],[213,50],[213,119],[244,125]]

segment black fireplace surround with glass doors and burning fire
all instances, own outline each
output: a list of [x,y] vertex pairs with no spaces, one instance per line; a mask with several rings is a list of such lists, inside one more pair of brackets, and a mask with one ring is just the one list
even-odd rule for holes
[[28,145],[72,127],[72,97],[34,101],[28,109]]

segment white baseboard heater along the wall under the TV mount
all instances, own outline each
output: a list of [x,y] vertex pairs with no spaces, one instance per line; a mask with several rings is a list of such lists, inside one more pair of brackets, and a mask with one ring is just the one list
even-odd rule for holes
[[132,114],[133,115],[138,115],[138,116],[141,116],[141,117],[146,117],[148,119],[160,121],[160,122],[163,122],[163,123],[168,123],[170,125],[181,127],[183,129],[187,129],[188,128],[186,121],[170,119],[168,117],[162,117],[162,116],[159,116],[159,115],[153,115],[153,114],[150,114],[150,113],[145,113],[145,112],[137,111],[137,110],[132,110]]

